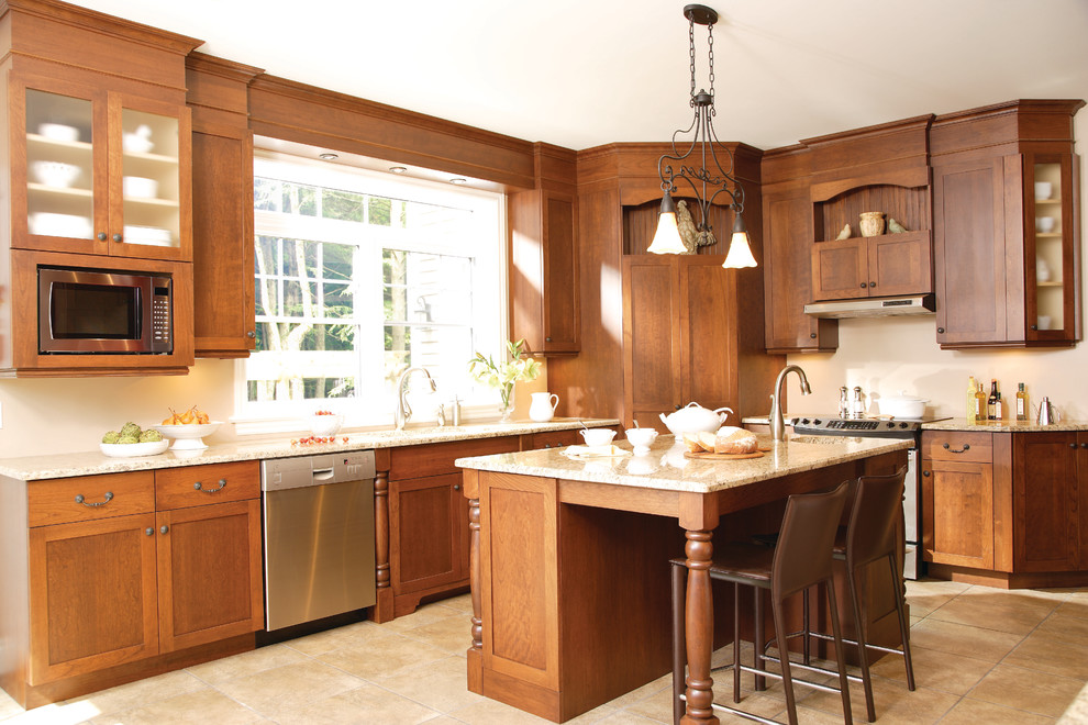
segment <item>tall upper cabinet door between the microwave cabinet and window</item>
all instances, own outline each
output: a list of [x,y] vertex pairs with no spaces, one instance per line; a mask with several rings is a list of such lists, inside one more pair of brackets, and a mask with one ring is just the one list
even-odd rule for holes
[[256,346],[253,255],[253,134],[204,123],[192,134],[198,357],[245,357]]

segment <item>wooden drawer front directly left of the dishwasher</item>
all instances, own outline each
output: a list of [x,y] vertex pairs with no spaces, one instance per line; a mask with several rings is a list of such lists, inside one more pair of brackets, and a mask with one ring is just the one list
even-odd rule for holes
[[155,471],[159,511],[260,498],[260,464],[240,460]]

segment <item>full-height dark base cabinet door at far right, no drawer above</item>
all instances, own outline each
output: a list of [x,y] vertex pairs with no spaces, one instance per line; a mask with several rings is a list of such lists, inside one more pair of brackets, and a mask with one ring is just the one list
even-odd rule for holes
[[1079,547],[1079,457],[1075,433],[1013,435],[1015,571],[1075,571]]

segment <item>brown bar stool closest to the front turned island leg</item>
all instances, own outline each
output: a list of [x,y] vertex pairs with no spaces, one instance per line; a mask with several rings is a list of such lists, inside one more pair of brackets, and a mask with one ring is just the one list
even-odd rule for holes
[[[781,532],[778,545],[774,548],[757,544],[724,544],[714,551],[714,560],[710,566],[710,578],[731,581],[734,584],[733,594],[733,702],[741,702],[741,671],[763,677],[774,677],[782,680],[786,691],[786,710],[789,724],[797,725],[797,706],[793,701],[793,682],[815,688],[826,692],[839,692],[843,700],[843,718],[851,725],[850,691],[846,680],[846,667],[842,660],[842,640],[839,631],[839,609],[835,603],[833,585],[832,547],[839,518],[842,516],[846,501],[848,482],[844,481],[834,491],[828,493],[809,493],[791,495],[786,502],[786,514],[782,516]],[[687,573],[685,559],[673,559],[673,692],[674,720],[679,722],[684,715],[684,581]],[[839,688],[809,682],[790,674],[791,663],[786,648],[786,622],[782,604],[788,596],[809,587],[825,583],[828,600],[831,605],[832,629],[834,631],[835,651],[839,659]],[[755,592],[756,646],[753,648],[753,665],[741,663],[741,584],[752,587]],[[780,662],[781,674],[763,669],[763,661],[770,659],[763,654],[763,592],[770,590],[770,611],[775,622],[778,650],[782,657],[775,658]],[[712,624],[712,623],[711,623]],[[796,663],[795,663],[796,666]],[[803,666],[801,666],[803,668]],[[775,723],[758,715],[713,704],[714,710],[733,713],[748,720],[762,723]]]

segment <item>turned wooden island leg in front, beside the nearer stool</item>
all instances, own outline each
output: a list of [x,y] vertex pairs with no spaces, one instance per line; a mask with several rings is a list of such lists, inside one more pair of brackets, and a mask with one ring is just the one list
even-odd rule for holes
[[685,603],[685,643],[688,649],[687,711],[681,724],[717,725],[711,707],[714,701],[710,677],[710,658],[714,648],[714,603],[710,587],[710,561],[714,547],[712,532],[687,531],[684,547],[688,566],[688,591]]

